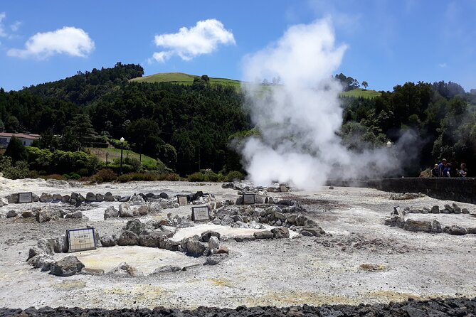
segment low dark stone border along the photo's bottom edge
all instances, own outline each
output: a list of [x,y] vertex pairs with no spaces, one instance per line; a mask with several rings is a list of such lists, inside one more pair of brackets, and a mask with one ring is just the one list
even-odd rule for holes
[[322,305],[322,306],[239,306],[235,309],[199,307],[193,310],[156,307],[149,308],[78,308],[78,307],[43,307],[43,308],[0,308],[0,316],[181,316],[181,317],[317,317],[317,316],[475,316],[476,298],[465,297],[430,299],[427,301],[391,301],[390,303],[372,303],[359,305]]

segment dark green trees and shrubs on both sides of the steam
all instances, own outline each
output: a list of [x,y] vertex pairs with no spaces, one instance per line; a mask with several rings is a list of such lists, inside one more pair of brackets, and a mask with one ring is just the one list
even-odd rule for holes
[[[141,164],[137,157],[128,157],[123,166],[127,171],[174,171],[196,181],[243,177],[233,172],[243,170],[230,142],[259,132],[252,129],[236,85],[206,75],[187,77],[186,85],[164,82],[162,77],[132,80],[143,73],[139,65],[117,63],[19,91],[0,89],[0,129],[42,134],[40,144],[35,144],[38,149],[26,154],[18,150],[26,156],[4,159],[4,168],[26,162],[41,173],[91,175],[105,164],[92,159],[95,149],[124,146],[152,160]],[[344,124],[339,134],[349,148],[381,146],[413,131],[419,141],[412,151],[420,155],[408,175],[417,175],[443,157],[458,164],[476,161],[475,90],[465,92],[453,82],[407,82],[392,92],[374,92],[366,90],[367,82],[360,90],[352,77],[335,78],[347,91],[342,95]],[[126,140],[122,145],[121,137]],[[83,165],[64,168],[57,162],[73,156],[82,158]],[[117,173],[117,164],[116,158],[108,167]],[[215,173],[203,171],[207,168]],[[472,166],[468,168],[471,175]]]

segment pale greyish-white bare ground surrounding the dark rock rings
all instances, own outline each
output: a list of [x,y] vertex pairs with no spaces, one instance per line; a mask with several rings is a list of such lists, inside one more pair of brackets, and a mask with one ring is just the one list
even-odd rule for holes
[[[213,193],[217,200],[235,200],[237,190],[221,188],[216,183],[126,183],[87,186],[80,183],[55,181],[8,181],[0,179],[1,195],[32,191],[41,193],[70,194],[72,191],[86,195],[88,192],[113,195],[133,193],[161,193],[169,196],[181,193]],[[82,219],[60,219],[38,223],[35,218],[6,218],[9,210],[27,210],[33,206],[48,205],[57,208],[62,203],[9,204],[0,208],[0,307],[80,307],[80,308],[150,308],[164,306],[166,309],[195,309],[199,306],[237,308],[238,306],[295,305],[321,306],[328,304],[359,305],[372,304],[369,309],[388,311],[403,309],[426,299],[451,298],[445,301],[430,301],[425,305],[459,309],[472,309],[474,301],[463,301],[459,297],[476,296],[475,252],[476,235],[455,236],[445,233],[409,232],[398,227],[384,225],[384,220],[393,207],[431,208],[433,205],[452,204],[452,201],[435,200],[427,196],[407,200],[392,200],[391,193],[369,188],[321,188],[316,191],[270,193],[274,198],[301,201],[307,209],[305,215],[322,227],[327,235],[307,237],[297,235],[290,239],[223,242],[230,250],[228,258],[214,266],[191,265],[179,272],[164,272],[139,277],[122,278],[110,275],[78,274],[69,277],[52,276],[33,269],[26,263],[28,249],[36,245],[40,237],[62,235],[66,229],[91,225],[100,235],[120,232],[128,219],[103,220],[105,208],[119,205],[118,202],[92,204],[83,211]],[[430,217],[445,225],[461,224],[476,227],[476,206],[458,203],[470,214],[422,215],[408,217]],[[140,219],[166,219],[167,213],[189,215],[190,206],[164,209],[154,215]],[[218,226],[218,225],[217,225]],[[190,230],[186,228],[184,230]],[[180,231],[179,231],[180,233]],[[115,254],[121,257],[141,258],[141,247]],[[120,250],[118,248],[118,250]],[[178,253],[178,252],[177,252]],[[182,253],[180,253],[182,255]],[[149,257],[143,253],[144,259]],[[180,256],[181,256],[180,255]],[[159,256],[149,257],[159,267]],[[179,259],[179,255],[176,256]],[[167,257],[167,264],[175,257]],[[109,257],[96,261],[109,261]],[[165,259],[164,259],[165,261]],[[181,263],[184,261],[180,258]],[[196,264],[195,259],[191,260]],[[153,270],[152,270],[153,271]],[[391,306],[376,303],[392,303]],[[423,304],[422,304],[423,305]],[[342,306],[342,309],[361,310],[363,306]],[[470,307],[470,308],[464,308]],[[248,314],[233,315],[231,311],[214,310],[216,316],[266,316],[252,308]],[[326,309],[334,309],[325,306]],[[306,316],[319,313],[324,308],[263,308],[268,316]],[[208,308],[207,308],[208,309]],[[243,308],[244,309],[244,308]],[[240,308],[241,311],[243,309]],[[262,309],[262,308],[255,308]],[[339,308],[340,309],[340,308]],[[367,308],[366,308],[367,309]],[[410,308],[408,308],[410,309]],[[420,309],[420,308],[418,308]],[[433,308],[432,308],[433,309]],[[440,308],[438,308],[440,309]],[[442,308],[443,309],[443,308]],[[444,311],[444,310],[443,310]],[[45,311],[43,311],[45,312]],[[139,316],[140,310],[131,311]],[[147,315],[147,311],[144,311]],[[14,314],[19,311],[0,311]],[[39,311],[29,310],[27,315]],[[45,312],[47,313],[47,312]],[[71,309],[63,315],[85,313]],[[150,313],[150,311],[149,311]],[[238,310],[235,311],[238,313]],[[320,312],[322,314],[322,312]],[[88,314],[88,311],[86,311]],[[98,313],[105,316],[104,313]],[[102,315],[101,315],[102,314]],[[113,316],[115,313],[111,313]],[[254,315],[253,315],[254,314]],[[347,314],[347,313],[346,313]],[[364,313],[363,313],[364,315]],[[384,313],[385,315],[385,313]],[[460,314],[461,316],[464,314]],[[53,315],[52,315],[53,316]],[[157,316],[205,316],[195,312]],[[215,315],[210,315],[215,316]],[[334,316],[343,316],[336,313]],[[371,315],[369,315],[371,316]],[[402,316],[406,316],[402,313]],[[418,315],[415,315],[418,316]]]

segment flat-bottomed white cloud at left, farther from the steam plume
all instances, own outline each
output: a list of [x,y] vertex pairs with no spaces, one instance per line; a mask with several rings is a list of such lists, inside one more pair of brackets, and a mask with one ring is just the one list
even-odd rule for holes
[[94,50],[94,42],[81,28],[65,26],[56,31],[36,33],[25,43],[24,49],[8,50],[9,56],[44,59],[55,54],[86,57]]

